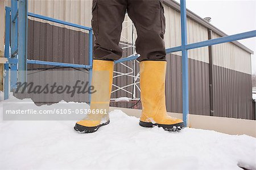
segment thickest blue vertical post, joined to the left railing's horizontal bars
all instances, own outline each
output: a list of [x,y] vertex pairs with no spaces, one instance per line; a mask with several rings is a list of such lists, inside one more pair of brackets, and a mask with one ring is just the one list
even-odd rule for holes
[[18,81],[27,81],[27,0],[19,0]]

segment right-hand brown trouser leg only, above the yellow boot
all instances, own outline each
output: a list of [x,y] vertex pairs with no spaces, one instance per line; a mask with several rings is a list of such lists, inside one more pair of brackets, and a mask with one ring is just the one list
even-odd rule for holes
[[127,12],[137,29],[138,61],[166,61],[166,28],[162,0],[127,0]]

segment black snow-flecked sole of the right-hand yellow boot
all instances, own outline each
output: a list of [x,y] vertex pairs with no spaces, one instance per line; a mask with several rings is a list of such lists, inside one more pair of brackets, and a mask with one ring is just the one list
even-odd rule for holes
[[166,131],[180,131],[184,128],[184,123],[176,123],[174,125],[162,125],[158,123],[151,123],[151,122],[142,122],[139,121],[139,125],[142,127],[162,127]]

